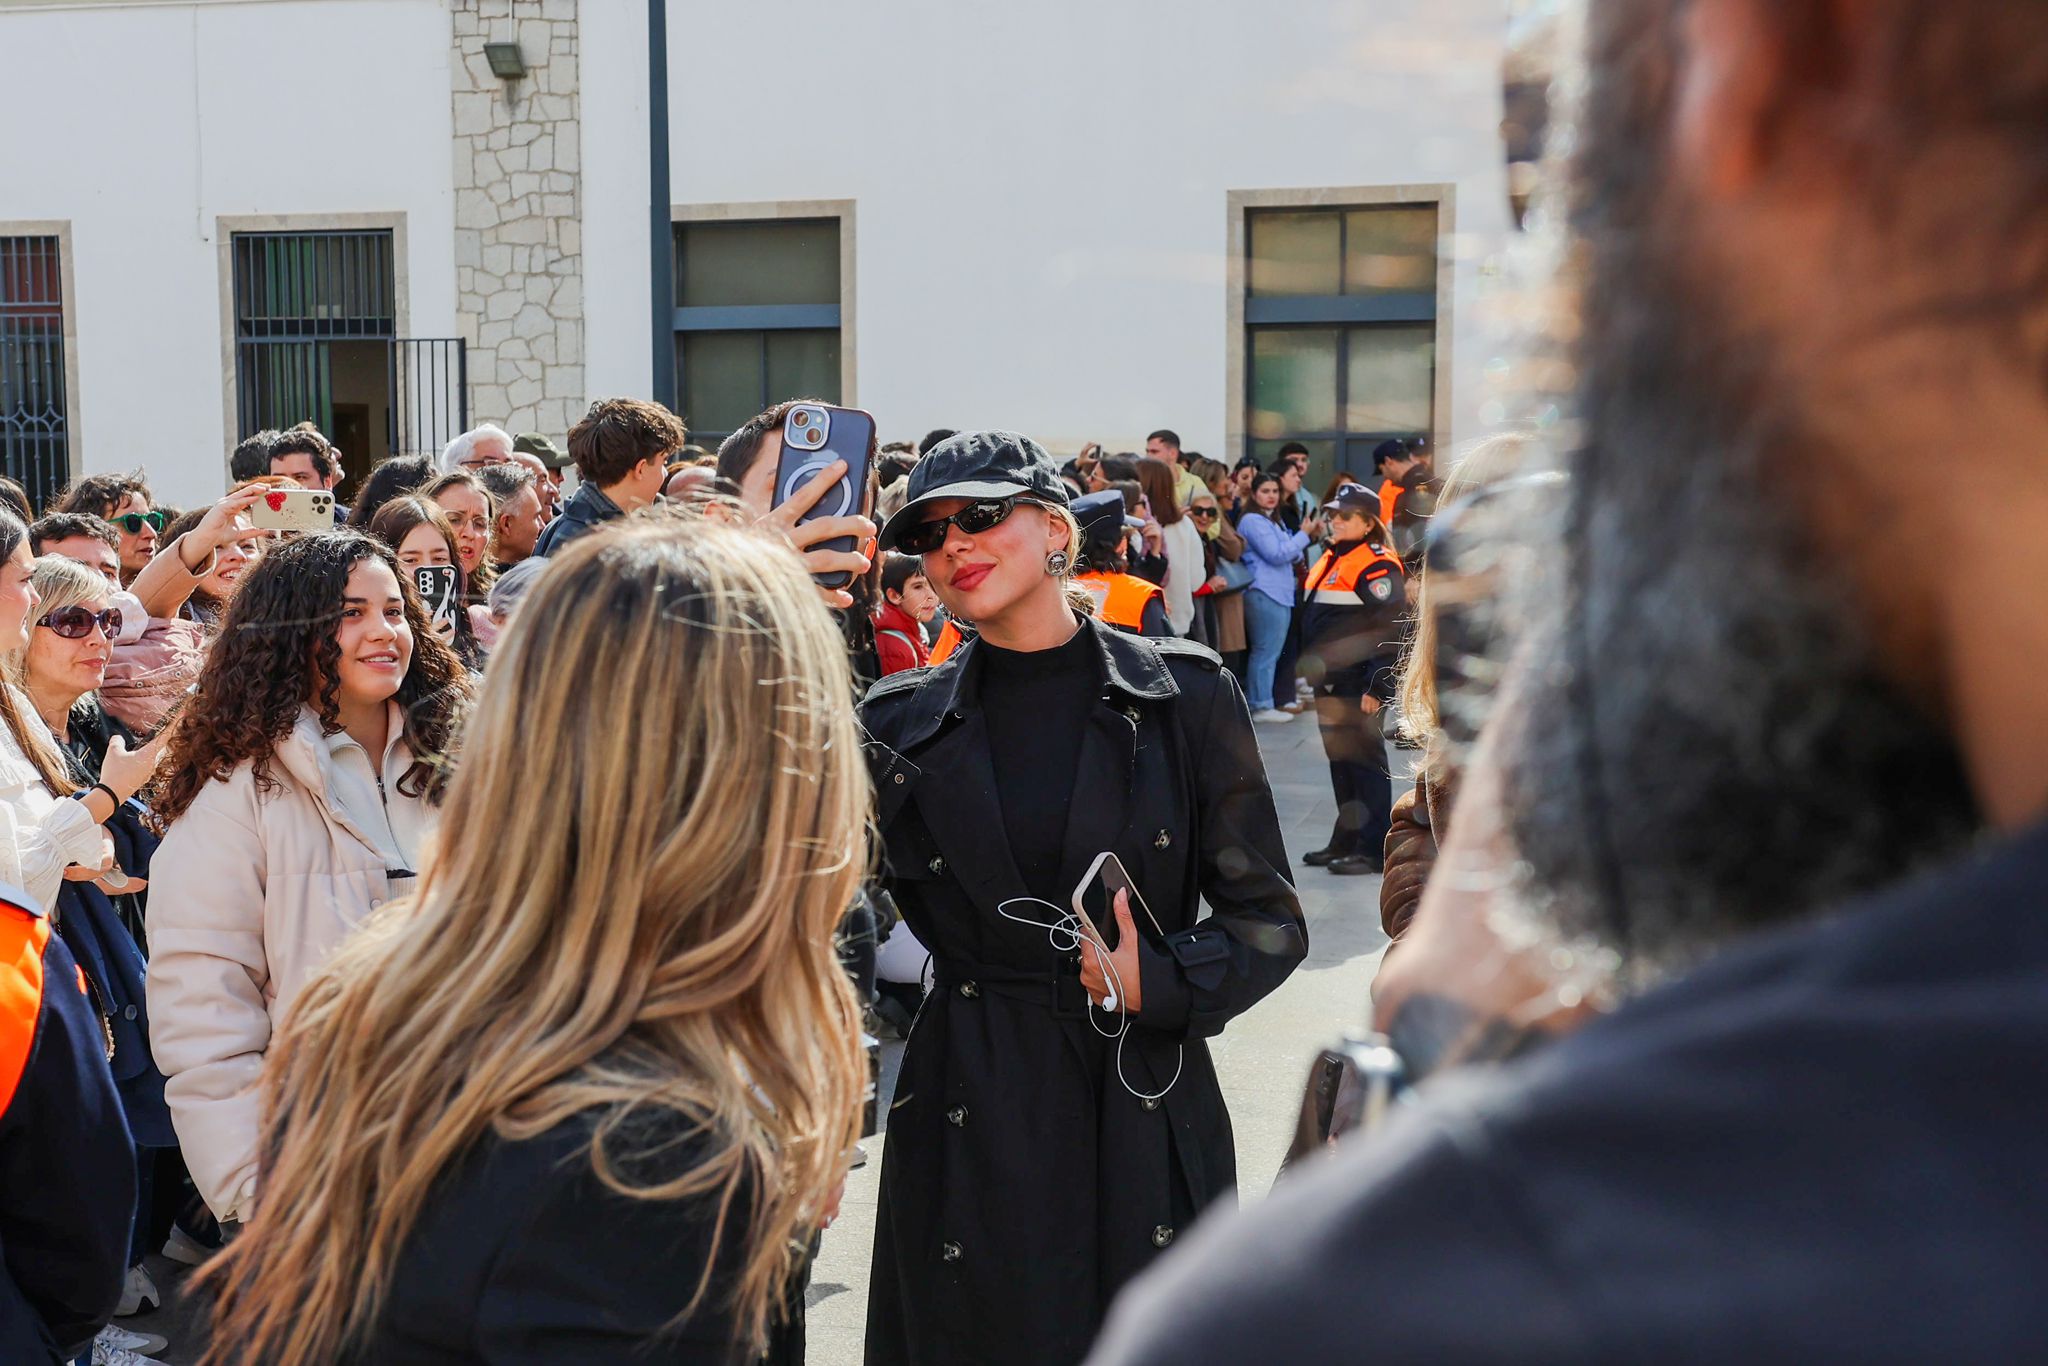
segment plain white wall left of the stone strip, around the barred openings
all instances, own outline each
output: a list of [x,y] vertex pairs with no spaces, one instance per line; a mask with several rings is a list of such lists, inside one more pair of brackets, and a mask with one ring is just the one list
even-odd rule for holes
[[219,494],[219,215],[403,213],[399,332],[453,336],[449,109],[442,0],[0,10],[0,219],[72,221],[74,465]]

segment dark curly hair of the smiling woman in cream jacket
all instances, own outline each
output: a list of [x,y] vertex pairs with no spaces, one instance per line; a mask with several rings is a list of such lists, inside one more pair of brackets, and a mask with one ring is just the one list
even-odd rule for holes
[[408,797],[438,801],[446,760],[471,696],[469,672],[426,625],[418,594],[399,573],[397,555],[354,530],[287,541],[242,580],[221,623],[221,635],[199,672],[197,692],[170,729],[152,799],[160,829],[184,815],[193,799],[242,764],[256,766],[256,788],[276,791],[270,760],[291,735],[299,709],[319,715],[322,731],[342,729],[336,639],[350,571],[365,559],[383,561],[406,598],[412,666],[397,686],[406,713],[406,745],[414,766],[399,778]]

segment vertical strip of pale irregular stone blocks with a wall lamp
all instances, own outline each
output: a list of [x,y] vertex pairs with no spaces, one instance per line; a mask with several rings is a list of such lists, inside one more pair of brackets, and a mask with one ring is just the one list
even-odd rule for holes
[[[455,289],[469,418],[557,442],[584,414],[578,0],[451,0]],[[518,43],[526,76],[492,74]]]

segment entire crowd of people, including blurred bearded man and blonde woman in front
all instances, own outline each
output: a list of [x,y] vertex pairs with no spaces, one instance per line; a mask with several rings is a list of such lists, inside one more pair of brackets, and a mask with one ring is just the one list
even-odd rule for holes
[[[1593,0],[1571,422],[1442,479],[936,430],[827,512],[813,403],[604,399],[0,483],[0,1358],[162,1350],[162,1251],[209,1362],[801,1362],[891,1012],[877,1364],[2038,1356],[2048,18],[1821,8]],[[1382,1032],[1233,1214],[1309,709]]]

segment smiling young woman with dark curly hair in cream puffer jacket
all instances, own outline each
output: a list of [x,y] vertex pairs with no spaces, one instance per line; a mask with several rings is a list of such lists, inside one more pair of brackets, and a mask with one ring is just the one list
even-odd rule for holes
[[150,879],[150,1042],[215,1216],[256,1192],[270,1032],[328,952],[403,891],[469,674],[397,557],[289,541],[242,578],[172,725]]

